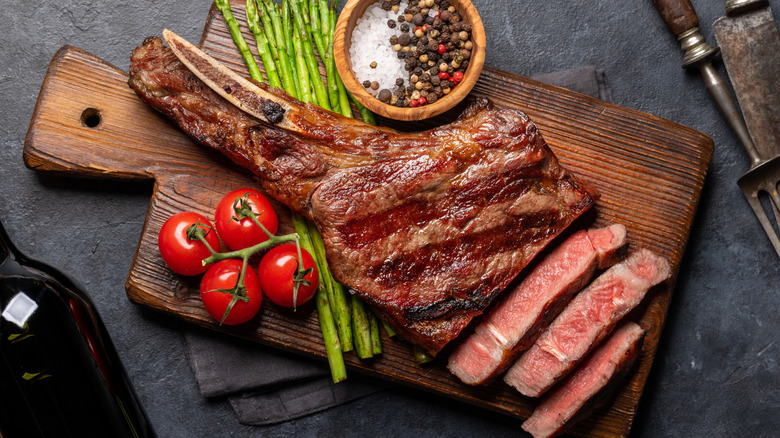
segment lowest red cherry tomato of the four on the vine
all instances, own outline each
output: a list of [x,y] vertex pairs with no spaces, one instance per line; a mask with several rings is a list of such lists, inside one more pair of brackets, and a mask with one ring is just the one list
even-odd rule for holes
[[209,314],[221,324],[243,324],[257,314],[263,303],[257,274],[249,266],[244,274],[244,287],[236,289],[241,265],[241,260],[237,259],[220,260],[200,281],[200,299]]

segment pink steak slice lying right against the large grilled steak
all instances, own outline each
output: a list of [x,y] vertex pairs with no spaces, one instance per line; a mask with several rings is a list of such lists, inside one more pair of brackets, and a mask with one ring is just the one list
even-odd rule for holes
[[488,383],[530,347],[571,297],[609,266],[625,246],[626,227],[578,231],[547,255],[449,357],[448,368],[469,385]]

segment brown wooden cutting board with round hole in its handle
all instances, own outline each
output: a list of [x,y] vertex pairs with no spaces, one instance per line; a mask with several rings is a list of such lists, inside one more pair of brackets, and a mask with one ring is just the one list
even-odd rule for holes
[[[243,5],[237,2],[233,6],[241,21]],[[138,36],[138,45],[143,37]],[[247,40],[252,41],[248,35]],[[200,46],[246,75],[230,34],[213,8]],[[156,244],[165,219],[182,210],[213,217],[211,212],[222,195],[253,185],[253,179],[218,153],[192,142],[142,103],[126,81],[124,72],[99,58],[75,47],[63,47],[49,66],[30,122],[25,163],[32,169],[79,177],[155,181],[126,282],[133,302],[213,330],[324,358],[313,306],[293,313],[268,303],[252,322],[241,327],[220,327],[201,306],[197,280],[184,279],[165,267]],[[630,315],[648,330],[635,371],[611,401],[574,430],[580,436],[625,436],[658,347],[712,157],[712,141],[658,117],[490,67],[484,69],[472,96],[489,97],[496,105],[528,113],[560,161],[601,191],[602,198],[587,220],[595,225],[625,224],[632,246],[656,251],[673,267],[672,279],[654,289],[641,308]],[[462,108],[415,126],[449,121]],[[393,125],[387,120],[382,122]],[[280,233],[292,232],[289,213],[277,207],[282,221]],[[501,382],[486,387],[466,386],[446,370],[443,359],[420,366],[408,344],[386,337],[383,341],[381,357],[361,361],[353,353],[346,354],[350,370],[518,420],[528,417],[535,406],[534,400]]]

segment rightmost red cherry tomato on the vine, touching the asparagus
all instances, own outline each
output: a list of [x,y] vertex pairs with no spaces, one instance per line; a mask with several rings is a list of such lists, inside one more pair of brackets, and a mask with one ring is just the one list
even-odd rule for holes
[[[272,248],[260,260],[260,265],[257,268],[260,286],[274,304],[283,307],[297,307],[311,300],[314,292],[317,291],[320,276],[314,259],[303,248],[301,248],[301,257],[303,263],[299,264],[298,248],[295,244],[288,243]],[[293,300],[296,269],[301,275],[310,268],[311,271],[302,277],[305,281],[298,282],[298,292]],[[308,284],[306,284],[307,282]]]

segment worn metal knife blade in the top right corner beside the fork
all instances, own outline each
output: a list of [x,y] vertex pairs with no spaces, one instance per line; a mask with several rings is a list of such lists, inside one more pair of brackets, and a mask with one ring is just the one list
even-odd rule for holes
[[713,25],[745,124],[762,158],[780,155],[780,36],[767,0],[729,0]]

